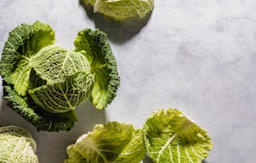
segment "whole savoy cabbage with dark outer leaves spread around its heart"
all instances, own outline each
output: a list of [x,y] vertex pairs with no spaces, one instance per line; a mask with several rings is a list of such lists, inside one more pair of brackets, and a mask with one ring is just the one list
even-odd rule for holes
[[120,84],[115,57],[104,32],[80,31],[74,50],[54,45],[53,29],[26,23],[9,32],[0,61],[3,98],[38,130],[69,130],[74,109],[88,98],[105,108]]

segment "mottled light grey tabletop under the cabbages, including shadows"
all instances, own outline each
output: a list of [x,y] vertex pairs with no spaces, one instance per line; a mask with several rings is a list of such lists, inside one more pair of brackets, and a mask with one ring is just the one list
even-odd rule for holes
[[[253,163],[256,154],[256,2],[156,0],[149,19],[116,23],[71,0],[1,0],[0,48],[22,22],[49,23],[58,44],[73,48],[85,27],[105,31],[118,63],[118,96],[105,111],[85,102],[69,131],[36,131],[6,106],[1,86],[0,126],[28,129],[41,163],[60,163],[66,146],[97,123],[141,127],[158,108],[177,107],[206,128],[213,149],[207,163]],[[148,161],[144,161],[148,162]]]

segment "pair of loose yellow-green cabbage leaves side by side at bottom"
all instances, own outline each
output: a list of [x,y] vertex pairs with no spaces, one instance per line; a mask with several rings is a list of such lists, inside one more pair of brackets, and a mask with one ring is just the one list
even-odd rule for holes
[[202,162],[211,149],[207,131],[168,108],[153,112],[141,129],[117,121],[96,125],[67,147],[65,163],[139,163],[146,154],[156,163]]

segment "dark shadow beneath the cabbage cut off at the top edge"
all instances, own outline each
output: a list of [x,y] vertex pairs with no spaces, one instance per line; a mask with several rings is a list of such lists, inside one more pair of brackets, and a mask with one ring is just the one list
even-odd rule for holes
[[111,17],[93,12],[93,7],[86,5],[83,0],[79,0],[79,4],[84,8],[87,16],[95,22],[95,27],[105,32],[110,41],[118,44],[130,40],[139,33],[146,26],[152,13],[149,12],[144,18],[135,17],[122,22],[115,22]]

